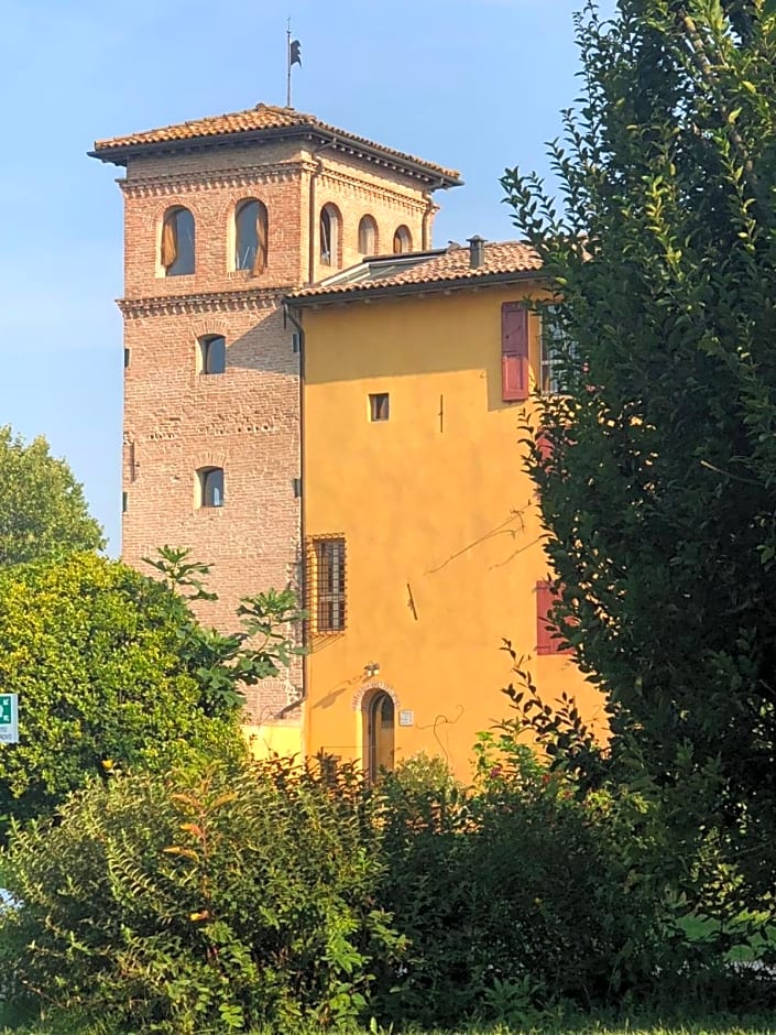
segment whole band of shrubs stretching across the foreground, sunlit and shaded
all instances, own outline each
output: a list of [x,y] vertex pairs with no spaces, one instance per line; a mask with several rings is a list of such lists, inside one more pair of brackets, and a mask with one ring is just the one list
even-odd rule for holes
[[523,736],[483,736],[466,788],[428,759],[376,786],[283,761],[95,784],[17,830],[0,959],[106,1031],[734,1003],[719,937],[691,929],[731,884],[712,840],[680,892],[649,785],[586,786],[579,751],[542,762]]

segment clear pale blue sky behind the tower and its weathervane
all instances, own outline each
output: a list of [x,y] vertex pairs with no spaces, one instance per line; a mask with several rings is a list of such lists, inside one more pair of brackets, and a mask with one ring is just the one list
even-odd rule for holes
[[[603,0],[610,11],[613,0]],[[0,424],[46,436],[120,548],[122,200],[97,138],[285,103],[459,168],[435,244],[514,237],[499,176],[547,174],[582,0],[3,0]]]

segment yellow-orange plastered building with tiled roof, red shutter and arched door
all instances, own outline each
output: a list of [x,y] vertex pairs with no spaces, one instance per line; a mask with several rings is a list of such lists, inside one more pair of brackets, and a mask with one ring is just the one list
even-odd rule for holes
[[303,349],[305,752],[470,772],[510,713],[512,641],[548,700],[601,701],[546,631],[520,425],[551,389],[520,243],[364,260],[287,299]]

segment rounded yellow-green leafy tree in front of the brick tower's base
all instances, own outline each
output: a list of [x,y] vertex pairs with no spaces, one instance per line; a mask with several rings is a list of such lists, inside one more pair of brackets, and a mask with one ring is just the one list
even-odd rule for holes
[[[288,593],[247,607],[271,630],[296,617]],[[219,638],[171,586],[84,553],[0,573],[0,686],[20,707],[20,742],[0,747],[0,815],[20,819],[117,769],[240,758],[238,688],[291,650],[274,631]]]

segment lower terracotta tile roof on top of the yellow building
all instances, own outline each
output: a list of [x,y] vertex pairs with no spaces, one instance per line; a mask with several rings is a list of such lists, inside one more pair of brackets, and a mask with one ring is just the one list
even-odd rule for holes
[[484,262],[472,269],[470,249],[453,244],[438,252],[413,255],[382,255],[367,259],[343,273],[329,277],[312,287],[303,287],[288,297],[304,303],[337,302],[342,296],[358,296],[370,292],[394,294],[406,287],[413,290],[434,288],[437,284],[462,283],[498,277],[507,280],[510,274],[525,274],[542,269],[542,260],[528,244],[521,241],[500,241],[484,246]]

